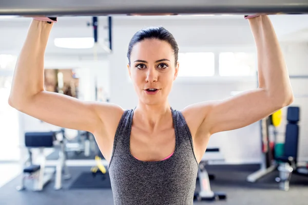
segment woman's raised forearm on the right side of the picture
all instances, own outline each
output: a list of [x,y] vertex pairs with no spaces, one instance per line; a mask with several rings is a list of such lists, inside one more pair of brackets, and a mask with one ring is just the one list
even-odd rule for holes
[[288,104],[293,92],[286,63],[273,28],[267,15],[248,20],[258,52],[259,88],[277,103]]

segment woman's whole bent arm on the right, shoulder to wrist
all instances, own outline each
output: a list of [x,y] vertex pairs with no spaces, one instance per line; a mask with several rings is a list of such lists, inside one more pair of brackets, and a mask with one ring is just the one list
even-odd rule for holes
[[195,115],[191,126],[200,137],[247,126],[293,102],[286,64],[269,17],[260,15],[248,21],[257,46],[259,87],[222,101],[186,107],[183,112],[191,113],[188,117]]

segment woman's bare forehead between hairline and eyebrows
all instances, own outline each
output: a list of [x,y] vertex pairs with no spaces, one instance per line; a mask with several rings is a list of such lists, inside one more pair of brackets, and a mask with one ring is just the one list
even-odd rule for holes
[[132,48],[130,58],[134,60],[173,60],[174,51],[169,43],[160,40],[144,40],[135,44]]

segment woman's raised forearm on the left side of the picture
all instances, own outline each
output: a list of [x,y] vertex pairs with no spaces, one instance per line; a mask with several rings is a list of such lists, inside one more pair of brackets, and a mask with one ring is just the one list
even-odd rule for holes
[[44,90],[44,53],[52,24],[33,20],[18,57],[9,103],[23,104]]

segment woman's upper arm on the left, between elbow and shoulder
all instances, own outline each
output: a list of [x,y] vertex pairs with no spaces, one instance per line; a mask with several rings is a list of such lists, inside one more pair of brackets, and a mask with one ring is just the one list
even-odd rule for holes
[[104,104],[83,102],[66,95],[48,91],[41,91],[24,103],[20,111],[29,116],[56,126],[91,133],[98,126],[102,126],[102,119],[98,114],[98,109],[101,109],[100,111],[107,110],[107,108],[104,108],[107,105]]

